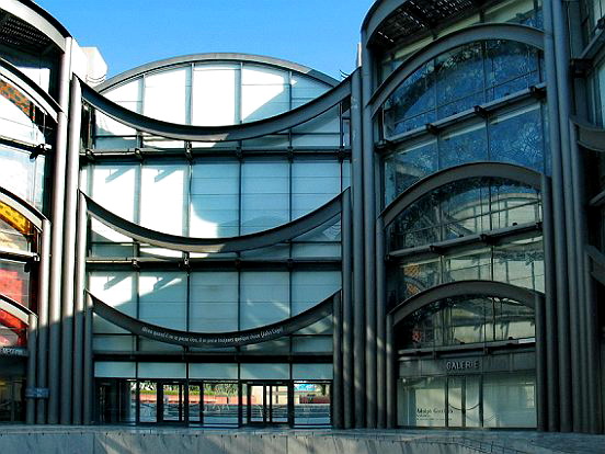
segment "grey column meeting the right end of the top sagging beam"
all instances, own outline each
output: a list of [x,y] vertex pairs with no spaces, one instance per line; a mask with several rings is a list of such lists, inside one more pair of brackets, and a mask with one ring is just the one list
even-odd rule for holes
[[351,167],[353,173],[353,331],[355,427],[365,425],[364,192],[361,68],[353,72],[351,92]]

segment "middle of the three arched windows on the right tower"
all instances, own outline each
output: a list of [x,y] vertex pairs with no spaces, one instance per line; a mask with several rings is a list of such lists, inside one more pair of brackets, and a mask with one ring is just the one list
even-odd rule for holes
[[501,179],[447,184],[404,209],[387,229],[400,250],[540,220],[538,191]]

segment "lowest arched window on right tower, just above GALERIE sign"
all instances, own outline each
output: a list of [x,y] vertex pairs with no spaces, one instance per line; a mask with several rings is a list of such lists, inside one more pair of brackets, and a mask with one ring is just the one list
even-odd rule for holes
[[535,336],[534,311],[507,298],[446,298],[416,310],[399,326],[399,349],[484,343]]

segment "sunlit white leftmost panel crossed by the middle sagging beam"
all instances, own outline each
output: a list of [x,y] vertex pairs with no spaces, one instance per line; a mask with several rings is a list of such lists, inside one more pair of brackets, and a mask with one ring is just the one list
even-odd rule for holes
[[[138,164],[100,164],[92,169],[92,198],[112,213],[128,220],[135,220],[137,205]],[[95,219],[91,222],[93,241],[130,242],[132,240],[105,227]]]

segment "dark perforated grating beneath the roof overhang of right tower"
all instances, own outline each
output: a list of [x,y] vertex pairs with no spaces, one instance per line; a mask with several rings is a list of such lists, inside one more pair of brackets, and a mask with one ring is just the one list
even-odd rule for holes
[[477,12],[479,0],[409,0],[388,16],[373,37],[374,47],[392,47],[412,36],[429,34],[453,19]]

